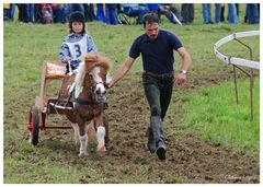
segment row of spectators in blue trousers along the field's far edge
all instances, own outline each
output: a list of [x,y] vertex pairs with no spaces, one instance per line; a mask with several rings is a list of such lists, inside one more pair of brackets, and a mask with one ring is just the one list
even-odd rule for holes
[[[195,19],[195,4],[193,3],[4,3],[3,20],[13,21],[15,9],[19,11],[18,20],[25,23],[66,23],[75,11],[84,14],[87,22],[99,21],[111,25],[130,24],[134,17],[136,24],[142,23],[144,15],[153,11],[159,17],[165,17],[174,24],[191,24]],[[211,10],[215,10],[214,19]],[[203,3],[204,24],[220,22],[239,23],[238,3]],[[243,22],[260,23],[260,4],[248,3]]]

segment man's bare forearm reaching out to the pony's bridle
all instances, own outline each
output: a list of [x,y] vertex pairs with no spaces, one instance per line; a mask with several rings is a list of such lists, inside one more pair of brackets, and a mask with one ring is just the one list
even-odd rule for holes
[[135,59],[132,57],[128,57],[125,60],[125,62],[123,65],[121,65],[121,67],[117,69],[117,71],[113,75],[113,79],[107,84],[107,87],[108,89],[112,87],[118,80],[121,80],[128,72],[128,70],[132,68],[134,62],[135,62]]

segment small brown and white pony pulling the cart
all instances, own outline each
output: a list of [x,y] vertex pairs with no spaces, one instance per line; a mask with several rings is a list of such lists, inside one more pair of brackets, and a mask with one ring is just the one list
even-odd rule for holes
[[105,127],[107,105],[104,83],[108,80],[106,78],[110,69],[110,59],[89,52],[80,62],[76,77],[66,77],[62,82],[58,101],[60,105],[62,102],[65,106],[72,107],[72,109],[65,109],[64,114],[71,121],[79,156],[88,154],[89,128],[95,129],[96,151],[106,151],[108,135]]

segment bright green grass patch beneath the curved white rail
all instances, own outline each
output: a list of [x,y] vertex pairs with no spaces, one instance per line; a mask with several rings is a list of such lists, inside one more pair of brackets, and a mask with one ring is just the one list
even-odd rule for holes
[[[236,105],[232,82],[191,93],[183,106],[187,114],[184,125],[201,131],[204,139],[236,149],[260,150],[260,81],[253,94],[254,119],[250,121],[249,81],[239,82],[239,105]],[[194,113],[193,113],[194,110]]]

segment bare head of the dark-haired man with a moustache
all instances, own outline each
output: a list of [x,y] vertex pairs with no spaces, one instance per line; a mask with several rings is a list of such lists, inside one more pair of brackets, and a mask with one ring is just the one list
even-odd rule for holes
[[144,23],[146,35],[150,38],[150,40],[156,39],[159,33],[158,15],[153,12],[149,12],[145,14],[142,23]]

